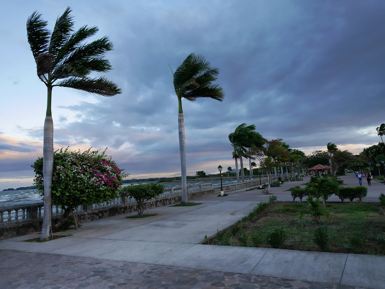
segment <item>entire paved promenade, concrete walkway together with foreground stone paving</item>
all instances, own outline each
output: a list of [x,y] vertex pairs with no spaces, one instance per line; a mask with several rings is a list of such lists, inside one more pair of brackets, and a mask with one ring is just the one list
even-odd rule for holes
[[[342,178],[358,183],[352,174]],[[285,190],[306,180],[272,192],[292,201]],[[382,188],[373,181],[363,200],[378,202]],[[22,242],[36,233],[1,241],[0,288],[385,288],[383,256],[199,244],[268,197],[238,190],[194,207],[149,209],[157,215],[143,219],[87,222],[49,242]]]

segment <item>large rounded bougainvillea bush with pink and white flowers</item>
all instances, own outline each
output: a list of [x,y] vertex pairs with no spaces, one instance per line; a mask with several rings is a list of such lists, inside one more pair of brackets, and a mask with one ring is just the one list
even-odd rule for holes
[[[109,202],[118,196],[122,178],[127,174],[105,155],[106,150],[71,152],[62,148],[54,152],[52,204],[64,209],[56,229],[68,220],[75,207]],[[35,172],[34,185],[44,197],[43,158],[39,157],[31,167]]]

